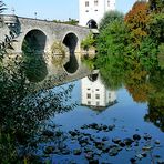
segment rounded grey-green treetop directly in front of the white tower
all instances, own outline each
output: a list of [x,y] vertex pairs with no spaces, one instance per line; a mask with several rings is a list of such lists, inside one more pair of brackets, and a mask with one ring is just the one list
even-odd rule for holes
[[123,13],[120,11],[107,11],[104,13],[103,18],[100,22],[100,30],[105,29],[110,23],[112,23],[114,20],[122,21],[123,20]]

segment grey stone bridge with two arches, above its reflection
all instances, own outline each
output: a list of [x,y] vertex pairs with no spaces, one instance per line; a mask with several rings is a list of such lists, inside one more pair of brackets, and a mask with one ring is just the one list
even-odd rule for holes
[[18,33],[17,43],[14,43],[14,52],[22,52],[22,43],[24,40],[33,42],[38,45],[38,50],[45,53],[51,52],[54,42],[61,42],[66,45],[70,51],[80,52],[81,41],[89,34],[90,29],[70,25],[64,23],[54,23],[47,20],[38,20],[31,18],[21,18],[17,16],[0,16],[0,40],[9,30],[14,29]]

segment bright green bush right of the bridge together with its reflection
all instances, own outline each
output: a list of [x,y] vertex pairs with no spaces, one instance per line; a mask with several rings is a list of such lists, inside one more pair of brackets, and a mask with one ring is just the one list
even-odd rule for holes
[[123,21],[115,20],[101,31],[98,38],[98,55],[95,64],[102,79],[112,89],[122,86],[125,55],[129,44],[129,31]]

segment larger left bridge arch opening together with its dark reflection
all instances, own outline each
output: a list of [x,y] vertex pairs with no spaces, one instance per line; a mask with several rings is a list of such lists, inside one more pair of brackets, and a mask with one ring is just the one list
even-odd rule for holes
[[29,81],[43,81],[48,74],[44,60],[47,35],[40,30],[29,31],[22,42],[24,72]]

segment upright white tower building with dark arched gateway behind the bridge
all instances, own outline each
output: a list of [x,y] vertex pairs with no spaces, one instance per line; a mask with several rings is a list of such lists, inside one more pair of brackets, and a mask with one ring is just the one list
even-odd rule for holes
[[115,10],[115,0],[79,0],[79,24],[91,24],[90,28],[96,29],[104,13],[110,10]]

